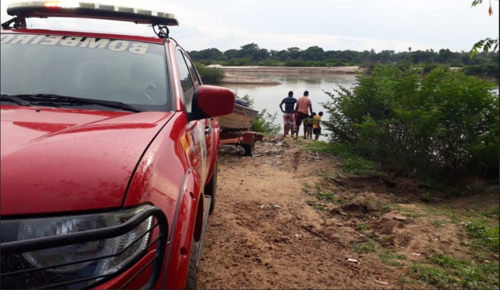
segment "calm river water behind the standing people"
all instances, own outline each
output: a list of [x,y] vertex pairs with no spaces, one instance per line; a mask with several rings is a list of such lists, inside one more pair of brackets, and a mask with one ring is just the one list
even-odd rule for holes
[[[283,113],[280,110],[280,102],[288,96],[289,91],[294,92],[294,97],[299,98],[304,91],[309,91],[309,97],[312,101],[312,109],[318,113],[323,111],[323,120],[328,119],[326,110],[320,105],[322,102],[330,100],[322,90],[334,93],[334,89],[339,89],[340,86],[350,88],[354,82],[356,75],[352,74],[311,74],[311,73],[254,73],[254,72],[238,72],[231,73],[241,76],[256,77],[271,81],[278,81],[280,85],[243,85],[243,84],[226,84],[228,87],[243,97],[248,94],[254,99],[254,107],[256,110],[267,109],[269,113],[277,113],[276,123],[282,125],[281,132],[283,133]],[[301,128],[301,134],[303,134]],[[322,128],[324,133],[328,133]],[[320,140],[325,140],[321,137]]]

